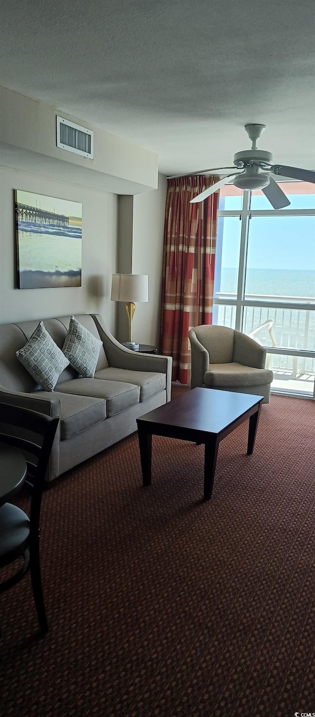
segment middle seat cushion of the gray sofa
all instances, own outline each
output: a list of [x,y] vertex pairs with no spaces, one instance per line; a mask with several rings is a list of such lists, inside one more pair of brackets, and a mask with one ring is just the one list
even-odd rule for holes
[[106,400],[107,417],[125,411],[139,403],[140,386],[123,383],[122,381],[100,381],[97,379],[72,379],[59,384],[58,391],[77,394],[77,396],[94,396]]

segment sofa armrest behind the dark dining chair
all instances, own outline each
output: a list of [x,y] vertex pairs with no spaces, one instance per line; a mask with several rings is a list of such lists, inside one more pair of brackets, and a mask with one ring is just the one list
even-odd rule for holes
[[[45,416],[52,418],[60,418],[61,402],[57,396],[52,393],[52,398],[48,398],[47,394],[41,397],[41,392],[35,394],[27,394],[22,391],[9,391],[4,386],[0,386],[0,402],[10,404],[11,406],[20,406],[28,408],[31,411],[44,413]],[[53,480],[60,473],[60,421],[57,426],[52,451],[50,453],[49,465],[47,467],[46,480]]]

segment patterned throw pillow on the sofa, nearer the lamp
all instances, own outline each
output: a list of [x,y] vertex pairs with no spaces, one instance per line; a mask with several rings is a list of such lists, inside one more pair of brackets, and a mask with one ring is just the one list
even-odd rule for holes
[[101,346],[102,341],[93,336],[72,316],[62,351],[64,356],[69,359],[71,366],[86,379],[94,378]]

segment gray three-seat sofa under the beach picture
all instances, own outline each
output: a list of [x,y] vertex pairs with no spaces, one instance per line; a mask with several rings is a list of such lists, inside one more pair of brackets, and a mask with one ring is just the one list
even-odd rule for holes
[[[170,357],[130,351],[107,331],[100,315],[76,318],[103,343],[95,378],[80,378],[68,366],[52,392],[42,391],[15,355],[39,319],[0,325],[0,401],[60,419],[48,481],[130,435],[137,429],[138,416],[170,401]],[[70,316],[43,319],[59,348],[69,320]]]

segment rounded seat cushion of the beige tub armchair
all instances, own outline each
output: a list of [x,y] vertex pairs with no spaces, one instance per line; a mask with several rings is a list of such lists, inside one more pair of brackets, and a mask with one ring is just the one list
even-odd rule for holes
[[225,386],[261,386],[271,383],[272,371],[268,369],[252,369],[243,364],[210,364],[209,371],[205,371],[203,383],[211,388]]

